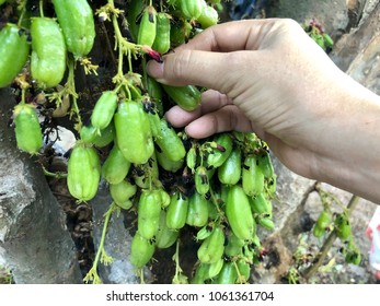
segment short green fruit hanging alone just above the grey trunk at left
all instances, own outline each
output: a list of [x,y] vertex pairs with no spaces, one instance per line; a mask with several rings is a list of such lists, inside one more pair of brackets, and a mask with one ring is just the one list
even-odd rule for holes
[[18,148],[30,154],[37,154],[43,146],[43,133],[35,108],[28,104],[14,107],[15,140]]

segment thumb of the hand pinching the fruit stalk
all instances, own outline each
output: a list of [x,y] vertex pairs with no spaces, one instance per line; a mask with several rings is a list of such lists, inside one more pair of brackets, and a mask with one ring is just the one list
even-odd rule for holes
[[[224,89],[231,87],[228,75],[234,54],[180,49],[164,56],[162,63],[149,61],[147,71],[160,83],[174,86],[192,84],[226,93]],[[233,67],[235,69],[239,68]]]

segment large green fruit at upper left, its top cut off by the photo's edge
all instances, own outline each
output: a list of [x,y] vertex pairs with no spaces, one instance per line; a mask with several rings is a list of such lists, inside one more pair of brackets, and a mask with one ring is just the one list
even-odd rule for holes
[[51,0],[68,51],[76,59],[87,56],[94,44],[95,23],[87,0]]

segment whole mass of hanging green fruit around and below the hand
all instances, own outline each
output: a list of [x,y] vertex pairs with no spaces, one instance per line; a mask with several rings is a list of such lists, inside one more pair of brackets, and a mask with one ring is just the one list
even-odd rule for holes
[[[115,86],[101,93],[90,123],[82,125],[80,107],[72,104],[78,108],[79,139],[68,161],[71,196],[88,202],[104,179],[113,205],[136,210],[130,261],[137,269],[152,259],[156,249],[179,242],[182,228],[193,226],[199,243],[198,262],[193,275],[175,275],[173,282],[249,282],[251,267],[263,252],[257,225],[274,228],[276,175],[268,148],[253,133],[188,138],[163,115],[174,104],[186,110],[197,108],[201,89],[162,85],[145,72],[146,56],[162,61],[161,55],[218,23],[219,1],[130,0],[116,8],[107,0],[95,13],[87,0],[51,2],[57,20],[31,17],[27,30],[12,24],[1,31],[0,70],[9,71],[7,78],[1,74],[1,86],[9,85],[27,64],[38,87],[51,89],[69,67],[65,93],[76,102],[74,66],[67,61],[80,61],[91,51],[94,15],[112,22],[118,54]],[[128,39],[122,35],[120,16],[127,20]],[[34,107],[23,99],[14,109],[14,121],[19,148],[36,154],[42,131]],[[85,280],[96,282],[97,278]]]

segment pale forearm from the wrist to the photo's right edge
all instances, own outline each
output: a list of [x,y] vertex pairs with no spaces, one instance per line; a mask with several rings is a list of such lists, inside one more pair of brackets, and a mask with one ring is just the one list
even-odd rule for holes
[[349,81],[335,99],[315,177],[380,203],[380,97]]

